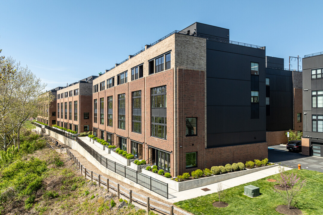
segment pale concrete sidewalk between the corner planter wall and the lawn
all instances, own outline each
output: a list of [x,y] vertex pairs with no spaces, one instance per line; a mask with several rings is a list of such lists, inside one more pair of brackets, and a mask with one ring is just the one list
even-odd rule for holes
[[[288,167],[285,167],[285,169],[291,170],[291,168],[288,168]],[[221,181],[221,183],[222,183],[224,189],[228,189],[228,188],[235,187],[235,186],[249,183],[249,182],[250,182],[250,184],[252,184],[252,181],[256,181],[258,179],[262,179],[262,178],[265,178],[270,175],[275,175],[276,173],[278,173],[278,166],[275,166],[275,167],[272,167],[272,168],[269,168],[266,170],[261,170],[258,172],[253,172],[253,173],[250,173],[247,175],[239,176],[239,177],[236,177],[233,179]],[[220,182],[218,182],[218,183],[220,183]],[[190,190],[186,190],[186,191],[181,191],[181,192],[177,192],[177,191],[169,189],[168,201],[174,203],[177,201],[192,199],[195,197],[205,196],[207,194],[217,192],[218,183],[214,183],[214,184],[210,184],[207,186],[194,188],[194,189],[190,189]],[[203,188],[208,188],[208,189],[210,189],[210,191],[201,190]],[[172,196],[174,196],[174,197],[172,197]]]

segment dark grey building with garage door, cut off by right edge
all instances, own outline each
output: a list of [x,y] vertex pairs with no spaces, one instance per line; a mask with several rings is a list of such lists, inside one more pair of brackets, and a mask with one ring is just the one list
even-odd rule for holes
[[323,157],[323,52],[303,60],[302,154]]

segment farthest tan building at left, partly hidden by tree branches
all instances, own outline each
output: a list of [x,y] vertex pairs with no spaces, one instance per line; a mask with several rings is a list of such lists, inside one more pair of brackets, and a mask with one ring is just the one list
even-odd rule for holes
[[54,96],[54,100],[46,105],[39,107],[40,115],[37,116],[37,121],[46,123],[49,126],[56,125],[56,98],[57,90],[63,87],[56,87],[46,92],[46,96],[51,93]]

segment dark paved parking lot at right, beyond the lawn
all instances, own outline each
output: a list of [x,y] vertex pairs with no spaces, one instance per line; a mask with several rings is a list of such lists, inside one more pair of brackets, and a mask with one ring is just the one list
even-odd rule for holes
[[306,156],[294,151],[288,151],[286,146],[268,146],[268,160],[273,163],[281,163],[290,168],[298,168],[301,164],[302,169],[323,172],[323,158]]

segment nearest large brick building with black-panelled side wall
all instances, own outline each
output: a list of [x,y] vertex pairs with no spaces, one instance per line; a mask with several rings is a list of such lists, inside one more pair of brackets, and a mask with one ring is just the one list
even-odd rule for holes
[[93,79],[84,106],[96,136],[175,176],[267,157],[266,77],[265,47],[194,23]]

